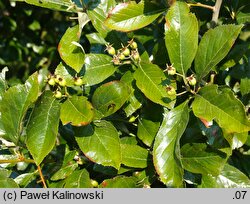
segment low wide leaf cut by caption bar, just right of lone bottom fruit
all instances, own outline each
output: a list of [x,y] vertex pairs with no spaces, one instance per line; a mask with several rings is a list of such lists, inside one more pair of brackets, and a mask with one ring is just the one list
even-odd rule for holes
[[134,177],[117,176],[112,179],[106,179],[100,184],[101,188],[136,188],[136,179]]

